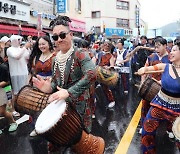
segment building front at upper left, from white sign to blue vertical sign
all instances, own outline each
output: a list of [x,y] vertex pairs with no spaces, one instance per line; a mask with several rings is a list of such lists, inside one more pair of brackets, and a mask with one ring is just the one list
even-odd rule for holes
[[0,0],[0,34],[45,35],[53,15],[53,0]]

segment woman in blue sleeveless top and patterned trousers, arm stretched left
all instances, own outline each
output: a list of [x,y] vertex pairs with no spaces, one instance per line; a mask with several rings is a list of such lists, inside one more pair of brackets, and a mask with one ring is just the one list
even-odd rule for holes
[[[151,101],[142,129],[143,153],[155,154],[155,135],[163,121],[173,123],[180,116],[180,42],[173,46],[169,59],[172,64],[157,64],[138,70],[139,75],[148,71],[163,70],[162,88]],[[172,84],[173,83],[173,84]],[[179,146],[179,143],[177,144]]]

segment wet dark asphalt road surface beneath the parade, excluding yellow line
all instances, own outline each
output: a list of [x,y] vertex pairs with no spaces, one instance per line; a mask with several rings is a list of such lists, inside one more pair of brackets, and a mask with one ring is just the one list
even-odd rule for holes
[[[137,96],[137,87],[131,86],[129,94],[122,94],[120,88],[113,91],[116,105],[107,109],[107,100],[102,89],[96,89],[97,108],[96,118],[93,119],[92,134],[101,136],[105,140],[105,154],[113,154],[121,141],[129,122],[136,111],[140,98]],[[6,125],[6,127],[5,127]],[[47,154],[47,142],[40,137],[29,137],[33,130],[32,123],[22,123],[16,132],[9,133],[7,121],[0,120],[0,128],[4,128],[0,135],[0,154]],[[129,146],[128,154],[140,154],[139,127]],[[173,141],[170,141],[163,126],[157,134],[157,154],[178,154]]]

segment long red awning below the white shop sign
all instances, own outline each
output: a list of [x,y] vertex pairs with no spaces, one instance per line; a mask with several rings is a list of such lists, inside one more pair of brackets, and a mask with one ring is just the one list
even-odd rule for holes
[[[0,33],[4,34],[21,34],[21,35],[31,35],[38,36],[38,30],[32,27],[21,26],[21,30],[16,25],[3,25],[0,24]],[[42,31],[39,31],[39,36],[45,35]]]

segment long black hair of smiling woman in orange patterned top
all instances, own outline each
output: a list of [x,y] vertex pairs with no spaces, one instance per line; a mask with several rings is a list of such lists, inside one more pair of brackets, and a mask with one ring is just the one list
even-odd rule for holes
[[29,61],[28,61],[28,70],[29,70],[29,72],[31,72],[34,58],[36,58],[35,61],[37,61],[37,60],[39,60],[39,57],[40,57],[41,54],[42,54],[42,51],[39,49],[39,40],[40,40],[41,38],[44,39],[44,40],[46,40],[46,41],[48,42],[48,44],[49,44],[49,50],[50,50],[50,51],[53,51],[53,44],[52,44],[49,36],[45,35],[45,36],[39,37],[39,38],[36,40],[36,43],[34,44],[33,49],[32,49],[32,52],[31,52],[31,55],[30,55],[30,57],[29,57]]

